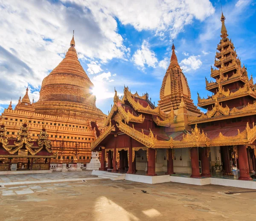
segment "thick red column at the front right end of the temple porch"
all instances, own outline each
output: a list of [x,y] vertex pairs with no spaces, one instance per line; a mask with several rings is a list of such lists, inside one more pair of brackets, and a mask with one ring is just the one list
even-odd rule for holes
[[247,158],[247,150],[245,145],[237,146],[238,150],[238,161],[239,161],[239,180],[252,180],[249,173],[249,164]]

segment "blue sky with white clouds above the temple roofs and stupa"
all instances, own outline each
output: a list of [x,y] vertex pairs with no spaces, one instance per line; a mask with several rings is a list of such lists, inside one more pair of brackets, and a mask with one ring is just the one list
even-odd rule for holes
[[[256,0],[222,0],[241,63],[256,82]],[[0,0],[0,112],[29,87],[37,101],[44,77],[65,56],[75,30],[79,61],[108,114],[114,88],[147,92],[157,105],[172,39],[192,99],[211,94],[205,77],[220,41],[220,0]]]

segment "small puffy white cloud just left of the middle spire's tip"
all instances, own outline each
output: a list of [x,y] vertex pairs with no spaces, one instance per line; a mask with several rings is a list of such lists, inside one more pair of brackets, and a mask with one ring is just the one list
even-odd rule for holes
[[145,64],[153,68],[157,64],[156,54],[150,50],[150,45],[146,40],[143,41],[141,49],[135,51],[132,60],[141,70],[145,70]]

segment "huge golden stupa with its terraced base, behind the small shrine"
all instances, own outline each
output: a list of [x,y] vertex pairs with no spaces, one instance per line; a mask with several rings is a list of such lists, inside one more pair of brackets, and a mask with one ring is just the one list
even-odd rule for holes
[[[11,101],[3,111],[6,138],[16,139],[26,123],[31,140],[38,140],[43,129],[47,131],[51,150],[57,153],[53,163],[71,163],[76,158],[80,163],[90,162],[90,144],[106,118],[96,108],[92,88],[93,83],[78,60],[73,35],[65,58],[44,78],[38,102],[31,102],[27,88],[14,109]],[[24,162],[27,158],[24,156]],[[22,157],[13,161],[22,161]]]

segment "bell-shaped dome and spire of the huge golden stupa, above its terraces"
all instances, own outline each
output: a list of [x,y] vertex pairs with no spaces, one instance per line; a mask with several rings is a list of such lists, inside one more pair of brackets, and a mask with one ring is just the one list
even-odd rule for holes
[[99,113],[93,83],[82,68],[75,49],[74,34],[65,58],[44,78],[35,113],[51,115]]

